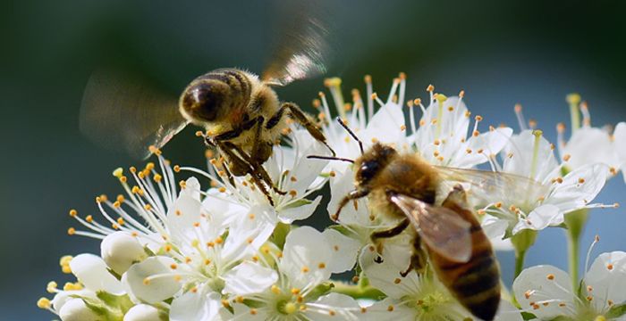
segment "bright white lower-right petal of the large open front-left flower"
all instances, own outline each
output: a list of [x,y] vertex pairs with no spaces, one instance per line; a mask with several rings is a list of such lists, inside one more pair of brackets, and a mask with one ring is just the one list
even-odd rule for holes
[[224,293],[246,295],[263,292],[278,281],[278,274],[274,269],[245,261],[224,274],[223,278],[226,283]]

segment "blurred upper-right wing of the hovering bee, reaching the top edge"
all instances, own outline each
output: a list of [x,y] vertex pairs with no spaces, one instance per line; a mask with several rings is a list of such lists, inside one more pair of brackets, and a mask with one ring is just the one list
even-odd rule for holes
[[261,79],[268,85],[284,86],[293,80],[326,72],[328,29],[321,19],[318,1],[283,1],[278,14],[275,49]]

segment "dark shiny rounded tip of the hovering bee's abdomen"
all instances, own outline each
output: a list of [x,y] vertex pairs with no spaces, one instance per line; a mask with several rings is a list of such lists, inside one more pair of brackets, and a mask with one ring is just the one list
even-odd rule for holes
[[216,81],[194,81],[181,95],[180,109],[191,122],[215,121],[224,111],[229,99],[230,88]]

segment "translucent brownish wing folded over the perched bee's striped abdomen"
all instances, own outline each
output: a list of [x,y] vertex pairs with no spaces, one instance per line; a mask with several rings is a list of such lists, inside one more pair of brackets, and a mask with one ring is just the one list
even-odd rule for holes
[[469,260],[471,224],[459,214],[402,194],[393,195],[391,202],[410,219],[429,249],[454,262],[463,263]]

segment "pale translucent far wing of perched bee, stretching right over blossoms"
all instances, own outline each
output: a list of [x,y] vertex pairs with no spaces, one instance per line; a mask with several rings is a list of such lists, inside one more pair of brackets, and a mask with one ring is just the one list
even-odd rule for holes
[[478,169],[435,167],[446,185],[468,184],[468,197],[474,206],[494,202],[537,201],[550,193],[550,186],[528,177]]

